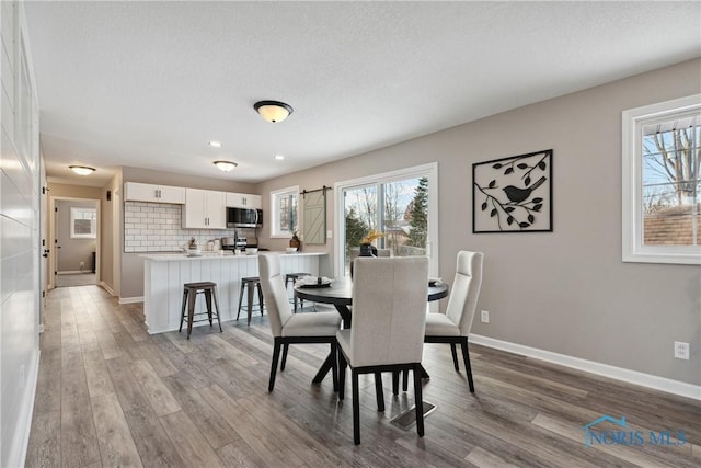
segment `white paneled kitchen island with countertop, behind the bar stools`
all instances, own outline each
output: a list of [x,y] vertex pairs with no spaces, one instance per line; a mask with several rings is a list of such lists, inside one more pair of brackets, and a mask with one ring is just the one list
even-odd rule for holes
[[[258,255],[204,253],[187,256],[183,253],[153,253],[143,259],[143,313],[148,332],[177,330],[183,300],[183,285],[210,281],[217,283],[221,321],[234,320],[239,308],[241,278],[258,275]],[[281,273],[304,272],[319,275],[320,259],[325,253],[279,253]],[[291,296],[291,290],[290,290]],[[243,303],[245,305],[245,295]],[[197,299],[195,312],[205,311],[204,298]],[[245,319],[246,311],[241,310]],[[206,322],[202,322],[204,324]]]

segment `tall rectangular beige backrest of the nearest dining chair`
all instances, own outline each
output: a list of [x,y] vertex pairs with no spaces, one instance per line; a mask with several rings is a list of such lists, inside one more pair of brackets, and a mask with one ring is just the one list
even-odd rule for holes
[[359,256],[354,271],[350,365],[421,362],[428,259]]

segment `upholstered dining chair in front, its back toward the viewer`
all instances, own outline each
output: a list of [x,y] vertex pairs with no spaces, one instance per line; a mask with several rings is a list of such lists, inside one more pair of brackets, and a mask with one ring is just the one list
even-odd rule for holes
[[378,410],[383,411],[382,372],[413,370],[416,430],[423,436],[421,359],[428,294],[428,259],[360,256],[354,263],[353,322],[349,330],[336,333],[340,400],[344,399],[346,365],[352,370],[354,442],[360,443],[358,376],[376,374]]

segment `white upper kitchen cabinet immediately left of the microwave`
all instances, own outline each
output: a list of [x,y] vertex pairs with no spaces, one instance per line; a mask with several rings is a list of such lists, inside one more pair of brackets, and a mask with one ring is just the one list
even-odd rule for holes
[[211,190],[185,189],[182,220],[182,226],[186,229],[226,229],[226,193]]

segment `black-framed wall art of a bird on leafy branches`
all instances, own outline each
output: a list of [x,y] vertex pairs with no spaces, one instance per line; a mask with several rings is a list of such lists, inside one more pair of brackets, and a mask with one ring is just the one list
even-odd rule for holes
[[472,164],[472,232],[552,232],[552,149]]

